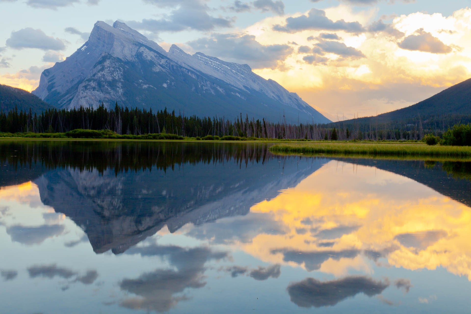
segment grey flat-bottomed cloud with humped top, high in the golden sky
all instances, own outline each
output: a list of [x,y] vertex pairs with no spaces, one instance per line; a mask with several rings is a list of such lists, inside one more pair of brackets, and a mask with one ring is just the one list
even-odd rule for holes
[[359,33],[364,32],[365,29],[358,22],[345,22],[343,19],[336,22],[332,21],[325,16],[325,11],[318,9],[311,9],[308,15],[301,15],[298,17],[288,17],[286,25],[281,26],[276,24],[273,30],[277,32],[301,32],[306,30],[329,30],[329,31],[344,31]]

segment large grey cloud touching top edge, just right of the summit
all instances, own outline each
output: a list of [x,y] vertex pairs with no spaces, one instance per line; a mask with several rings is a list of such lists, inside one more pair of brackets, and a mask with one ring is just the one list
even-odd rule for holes
[[[143,19],[141,22],[128,21],[126,24],[132,28],[149,32],[179,32],[187,29],[211,31],[214,28],[232,26],[233,21],[231,19],[210,16],[207,12],[209,8],[199,1],[148,0],[147,2],[157,6],[175,7],[178,4],[182,5],[175,8],[170,15],[161,19]],[[170,5],[170,2],[175,5]]]

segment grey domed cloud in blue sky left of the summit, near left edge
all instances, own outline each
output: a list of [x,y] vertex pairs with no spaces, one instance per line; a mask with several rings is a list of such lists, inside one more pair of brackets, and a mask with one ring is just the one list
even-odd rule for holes
[[64,50],[65,44],[62,40],[46,35],[40,29],[31,27],[11,32],[7,39],[7,46],[14,49],[37,48],[42,50]]

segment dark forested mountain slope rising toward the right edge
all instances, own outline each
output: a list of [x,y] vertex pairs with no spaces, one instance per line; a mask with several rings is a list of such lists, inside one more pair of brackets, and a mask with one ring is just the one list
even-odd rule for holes
[[[448,126],[460,121],[471,121],[471,79],[447,88],[438,94],[422,100],[421,102],[406,107],[382,113],[375,117],[365,117],[355,120],[357,124],[415,124],[419,122],[419,116],[424,128],[446,129]],[[349,124],[353,120],[340,123]],[[435,128],[434,128],[435,126]]]

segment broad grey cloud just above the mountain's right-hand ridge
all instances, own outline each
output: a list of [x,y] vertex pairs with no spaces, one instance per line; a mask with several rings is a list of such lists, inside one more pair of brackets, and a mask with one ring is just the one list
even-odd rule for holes
[[210,56],[249,64],[254,69],[274,69],[293,51],[293,48],[286,44],[264,46],[255,40],[253,35],[236,34],[213,34],[210,38],[189,41],[188,45]]

